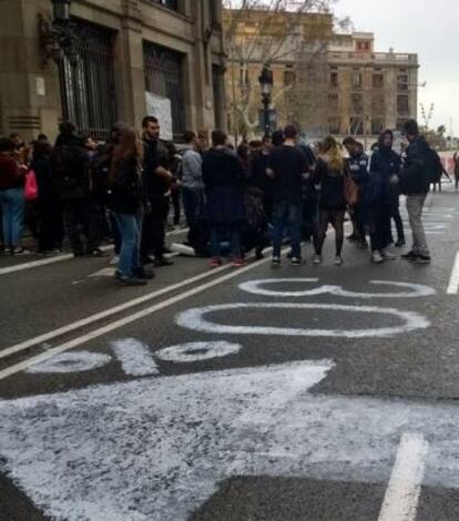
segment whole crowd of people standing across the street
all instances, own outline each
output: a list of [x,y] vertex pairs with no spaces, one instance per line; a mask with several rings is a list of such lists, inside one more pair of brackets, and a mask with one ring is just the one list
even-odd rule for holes
[[405,194],[412,248],[402,257],[427,264],[422,208],[442,166],[416,121],[405,124],[405,135],[402,155],[395,152],[387,130],[369,159],[355,137],[339,144],[327,136],[309,146],[292,125],[236,149],[218,130],[210,146],[204,135],[185,132],[185,146],[177,149],[161,139],[154,116],[144,118],[141,136],[128,124],[113,125],[103,144],[78,135],[69,122],[60,125],[53,145],[43,134],[31,146],[12,134],[0,139],[1,251],[30,253],[22,243],[24,225],[41,255],[59,254],[67,236],[75,257],[104,256],[101,245],[110,238],[116,282],[144,285],[154,266],[173,264],[165,256],[166,223],[173,208],[178,225],[183,208],[185,246],[193,255],[210,257],[212,267],[224,255],[235,267],[243,266],[251,249],[261,258],[269,244],[272,266],[279,267],[286,242],[289,263],[298,266],[305,262],[304,241],[313,243],[313,263],[319,265],[330,225],[334,263],[340,266],[348,214],[348,241],[370,248],[371,262],[381,264],[394,258],[390,245],[406,244],[399,211]]

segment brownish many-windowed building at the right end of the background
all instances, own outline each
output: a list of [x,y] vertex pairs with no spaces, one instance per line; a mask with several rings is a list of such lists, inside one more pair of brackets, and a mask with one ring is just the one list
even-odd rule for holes
[[373,33],[335,35],[328,48],[329,132],[377,136],[417,118],[418,55],[375,52]]

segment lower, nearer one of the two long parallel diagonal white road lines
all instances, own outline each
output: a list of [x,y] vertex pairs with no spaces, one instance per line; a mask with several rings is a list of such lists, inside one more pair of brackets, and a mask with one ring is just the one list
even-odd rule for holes
[[[217,286],[217,285],[220,285],[220,284],[222,284],[226,280],[231,280],[232,278],[238,277],[239,275],[243,275],[244,273],[249,272],[251,269],[259,267],[259,266],[262,266],[263,264],[266,264],[269,260],[271,259],[268,257],[268,258],[265,258],[264,260],[259,260],[259,262],[255,262],[253,264],[249,264],[248,266],[246,266],[244,268],[235,269],[234,272],[228,273],[226,275],[223,275],[222,277],[218,277],[218,278],[213,279],[208,283],[202,284],[201,286],[194,287],[192,289],[188,289],[187,292],[184,292],[180,295],[171,297],[171,298],[169,298],[166,300],[163,300],[159,304],[155,304],[151,307],[142,309],[141,311],[134,313],[133,315],[130,315],[128,317],[115,320],[111,324],[108,324],[106,326],[100,327],[99,329],[94,329],[93,331],[88,333],[85,335],[82,335],[78,338],[73,338],[72,340],[67,341],[67,343],[62,344],[61,346],[49,349],[48,351],[42,353],[40,355],[37,355],[32,358],[29,358],[28,360],[16,364],[16,365],[0,371],[0,380],[4,379],[4,378],[7,378],[11,375],[16,375],[17,372],[20,372],[20,371],[27,369],[30,366],[34,366],[35,364],[39,364],[41,361],[49,360],[50,358],[54,357],[55,355],[59,355],[60,353],[68,351],[69,349],[72,349],[76,346],[80,346],[81,344],[84,344],[89,340],[101,337],[101,336],[105,335],[106,333],[113,331],[113,330],[119,329],[123,326],[126,326],[128,324],[132,324],[133,321],[140,320],[141,318],[144,318],[149,315],[152,315],[156,311],[160,311],[161,309],[173,306],[174,304],[177,304],[182,300],[185,300],[186,298],[190,298],[190,297],[193,297],[193,296],[195,296],[200,293],[203,293],[206,289],[210,289],[214,286]],[[218,269],[221,269],[221,268],[218,268]],[[216,269],[212,270],[211,273],[215,273],[215,272],[216,272]],[[177,285],[177,286],[180,286],[180,285]]]

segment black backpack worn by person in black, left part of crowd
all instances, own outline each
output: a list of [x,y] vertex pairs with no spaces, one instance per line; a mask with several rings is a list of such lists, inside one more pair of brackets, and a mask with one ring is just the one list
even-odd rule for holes
[[80,187],[88,178],[88,157],[83,147],[62,144],[51,154],[52,178],[59,191]]

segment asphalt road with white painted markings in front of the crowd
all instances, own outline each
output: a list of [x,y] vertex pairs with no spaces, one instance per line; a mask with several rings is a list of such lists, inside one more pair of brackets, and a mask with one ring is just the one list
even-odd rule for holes
[[430,266],[1,257],[0,520],[459,519],[457,222]]

